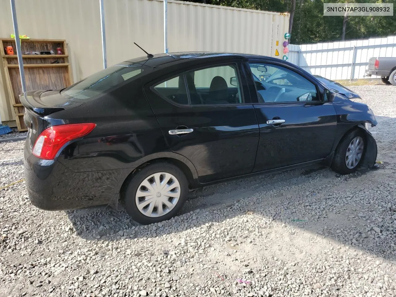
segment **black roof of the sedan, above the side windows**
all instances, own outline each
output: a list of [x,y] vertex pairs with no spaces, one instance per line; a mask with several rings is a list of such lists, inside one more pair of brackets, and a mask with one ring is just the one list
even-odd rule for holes
[[154,55],[151,58],[148,58],[147,56],[143,56],[143,57],[127,60],[126,62],[138,63],[142,65],[144,64],[147,67],[155,68],[170,62],[176,62],[181,60],[190,61],[191,59],[208,59],[214,57],[259,58],[259,59],[265,58],[270,60],[279,60],[272,57],[251,55],[245,53],[211,53],[211,52],[189,51],[189,52],[176,52],[176,53],[160,53]]

